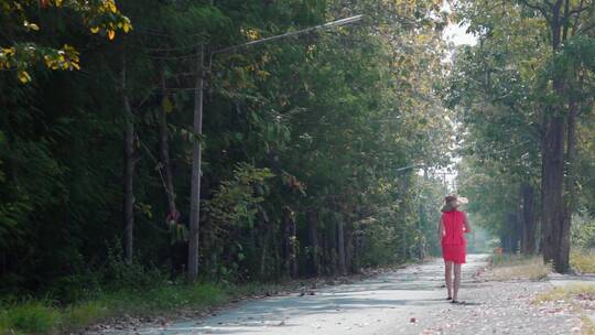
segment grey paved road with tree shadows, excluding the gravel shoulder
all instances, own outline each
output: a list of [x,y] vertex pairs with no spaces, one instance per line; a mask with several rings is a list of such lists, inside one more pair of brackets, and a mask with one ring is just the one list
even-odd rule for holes
[[[486,266],[487,256],[472,255],[467,261],[459,298],[479,304],[465,294],[465,288],[476,285],[472,275]],[[354,284],[320,289],[314,295],[248,301],[205,320],[119,334],[420,334],[431,318],[452,307],[442,283],[442,260],[434,260]]]

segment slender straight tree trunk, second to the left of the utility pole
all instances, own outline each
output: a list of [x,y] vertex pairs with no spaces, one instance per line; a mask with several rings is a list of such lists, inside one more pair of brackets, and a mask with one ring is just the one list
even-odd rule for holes
[[125,258],[132,261],[134,230],[134,116],[127,91],[126,54],[122,52],[121,89],[125,108],[125,166],[123,166],[123,218],[125,218]]

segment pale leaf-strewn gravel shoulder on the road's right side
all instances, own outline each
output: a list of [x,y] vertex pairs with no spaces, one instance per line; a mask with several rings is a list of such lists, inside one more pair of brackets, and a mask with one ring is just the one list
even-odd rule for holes
[[564,301],[537,303],[539,293],[553,287],[547,281],[487,281],[464,284],[452,304],[434,313],[421,334],[581,334],[581,318]]

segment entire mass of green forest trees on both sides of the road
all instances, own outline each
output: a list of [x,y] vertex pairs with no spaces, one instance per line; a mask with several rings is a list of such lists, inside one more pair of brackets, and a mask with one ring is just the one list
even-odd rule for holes
[[1,293],[421,259],[453,191],[567,271],[595,246],[595,6],[450,7],[0,0]]

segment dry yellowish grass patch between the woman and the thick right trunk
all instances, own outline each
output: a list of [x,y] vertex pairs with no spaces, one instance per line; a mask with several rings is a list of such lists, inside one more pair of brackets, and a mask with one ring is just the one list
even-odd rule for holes
[[490,275],[494,280],[543,280],[552,269],[539,256],[494,255],[490,258]]

